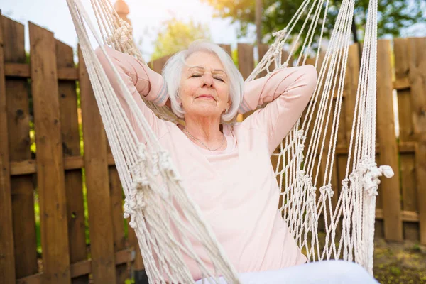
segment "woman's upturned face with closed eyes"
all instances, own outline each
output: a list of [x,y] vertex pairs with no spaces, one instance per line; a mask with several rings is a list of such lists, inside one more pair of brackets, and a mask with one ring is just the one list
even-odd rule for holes
[[217,55],[192,53],[182,70],[179,99],[188,116],[217,117],[229,109],[229,78]]

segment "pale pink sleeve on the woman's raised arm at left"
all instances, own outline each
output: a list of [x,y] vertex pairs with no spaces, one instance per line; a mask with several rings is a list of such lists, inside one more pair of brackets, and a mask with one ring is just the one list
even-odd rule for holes
[[[168,99],[167,86],[161,77],[160,74],[151,70],[148,66],[143,65],[140,61],[133,56],[121,53],[117,50],[109,48],[109,46],[104,45],[107,55],[111,59],[112,63],[116,67],[116,70],[119,72],[121,79],[123,79],[126,84],[127,89],[129,89],[133,99],[135,99],[136,104],[141,109],[143,115],[145,116],[148,124],[156,134],[160,134],[161,128],[164,127],[164,121],[158,119],[157,116],[149,109],[146,104],[144,104],[142,97],[148,101],[157,104],[158,106],[163,106]],[[123,107],[124,111],[129,118],[133,128],[138,135],[138,138],[142,139],[141,129],[136,126],[136,121],[131,114],[129,105],[124,99],[124,94],[121,91],[121,88],[114,76],[114,72],[109,65],[107,58],[105,57],[102,49],[99,47],[94,50],[99,62],[101,62],[104,71],[107,74],[109,82],[111,82],[112,87],[114,88],[119,102]]]

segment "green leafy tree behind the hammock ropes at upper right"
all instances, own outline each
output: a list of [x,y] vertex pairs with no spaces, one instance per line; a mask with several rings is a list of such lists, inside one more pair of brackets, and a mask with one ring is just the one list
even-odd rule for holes
[[[249,25],[255,22],[255,0],[202,0],[211,5],[217,13],[215,16],[231,18],[239,23],[239,36],[248,33]],[[271,43],[274,31],[285,28],[303,0],[263,0],[262,34],[263,41]],[[326,1],[324,1],[325,4]],[[368,0],[357,0],[354,11],[354,38],[364,38]],[[426,23],[426,0],[379,0],[378,1],[378,36],[401,36],[403,28],[415,23]],[[329,11],[325,23],[324,36],[329,37],[339,12],[342,0],[329,0]],[[295,27],[294,33],[300,31],[302,21]],[[305,30],[306,31],[306,30]],[[355,33],[356,31],[356,33]],[[357,40],[355,40],[357,41]]]

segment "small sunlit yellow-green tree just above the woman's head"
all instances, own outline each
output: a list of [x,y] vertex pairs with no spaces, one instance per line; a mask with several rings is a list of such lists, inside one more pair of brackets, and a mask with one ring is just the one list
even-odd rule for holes
[[185,23],[177,18],[165,21],[155,40],[155,49],[151,61],[183,50],[198,39],[209,39],[209,29],[200,23]]

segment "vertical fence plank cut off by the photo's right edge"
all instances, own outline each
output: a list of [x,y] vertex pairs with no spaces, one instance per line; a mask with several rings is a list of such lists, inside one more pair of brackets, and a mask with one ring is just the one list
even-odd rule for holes
[[413,130],[417,140],[417,207],[420,217],[420,242],[426,244],[426,38],[409,38],[410,83]]

